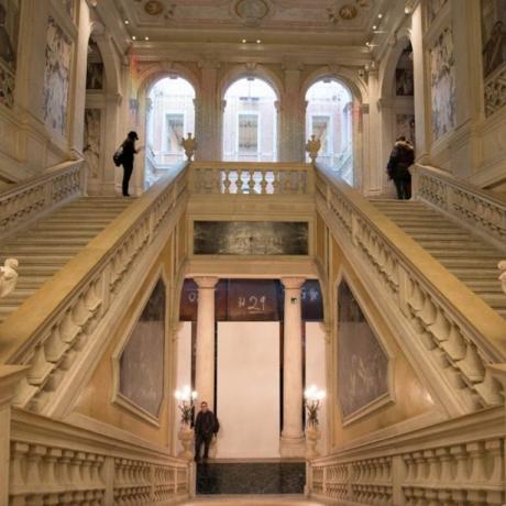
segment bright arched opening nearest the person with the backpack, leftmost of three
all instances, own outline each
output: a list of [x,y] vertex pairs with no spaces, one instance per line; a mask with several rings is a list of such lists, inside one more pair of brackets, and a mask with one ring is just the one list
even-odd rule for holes
[[195,88],[182,77],[164,77],[146,100],[146,187],[185,160],[180,142],[187,133],[195,134]]

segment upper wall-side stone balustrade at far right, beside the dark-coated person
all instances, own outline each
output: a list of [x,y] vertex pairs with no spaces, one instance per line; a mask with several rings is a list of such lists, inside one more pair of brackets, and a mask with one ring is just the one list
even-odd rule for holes
[[506,199],[457,180],[443,170],[416,164],[413,195],[506,251]]

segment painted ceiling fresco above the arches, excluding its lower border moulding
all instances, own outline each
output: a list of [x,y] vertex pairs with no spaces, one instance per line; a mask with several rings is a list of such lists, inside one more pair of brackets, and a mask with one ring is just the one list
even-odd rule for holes
[[130,30],[364,32],[385,0],[116,0]]

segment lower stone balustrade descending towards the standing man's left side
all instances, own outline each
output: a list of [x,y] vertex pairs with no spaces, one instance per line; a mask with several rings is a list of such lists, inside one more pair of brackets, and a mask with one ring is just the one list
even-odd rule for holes
[[12,410],[10,449],[10,505],[166,505],[190,495],[191,464],[167,450],[29,411]]

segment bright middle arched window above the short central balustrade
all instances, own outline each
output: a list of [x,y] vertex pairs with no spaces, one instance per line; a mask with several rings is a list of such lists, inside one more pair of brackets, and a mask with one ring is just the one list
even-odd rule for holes
[[223,160],[277,161],[276,92],[261,79],[243,78],[224,95]]

